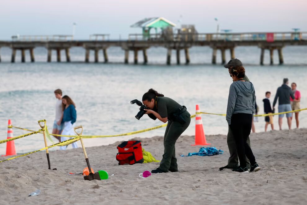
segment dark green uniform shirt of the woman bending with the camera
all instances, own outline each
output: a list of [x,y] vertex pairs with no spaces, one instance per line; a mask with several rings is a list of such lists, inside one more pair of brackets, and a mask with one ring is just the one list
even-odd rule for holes
[[[178,109],[182,109],[182,106],[175,100],[167,97],[158,97],[157,107],[154,107],[154,111],[158,112],[162,118],[167,117],[170,119],[170,114]],[[148,115],[151,119],[156,120],[157,117],[154,114]]]

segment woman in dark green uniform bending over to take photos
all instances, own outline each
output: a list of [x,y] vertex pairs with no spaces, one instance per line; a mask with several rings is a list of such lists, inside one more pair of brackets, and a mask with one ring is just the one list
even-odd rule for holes
[[160,166],[152,170],[151,173],[176,172],[178,171],[177,159],[175,155],[175,143],[180,135],[188,128],[191,115],[185,106],[181,106],[175,100],[164,97],[154,89],[149,89],[143,95],[143,104],[149,109],[144,109],[145,114],[156,120],[167,122],[164,134],[164,154]]

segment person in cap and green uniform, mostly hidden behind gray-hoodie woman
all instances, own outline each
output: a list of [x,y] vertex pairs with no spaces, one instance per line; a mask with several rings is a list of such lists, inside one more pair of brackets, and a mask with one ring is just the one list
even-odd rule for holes
[[[231,59],[227,64],[224,65],[225,68],[228,68],[228,72],[230,77],[232,76],[230,71],[234,67],[242,66],[242,62],[237,59]],[[244,75],[243,80],[250,82],[246,75]],[[249,137],[247,137],[247,144],[249,147],[251,147],[251,142]],[[230,127],[228,126],[228,134],[227,134],[227,145],[229,149],[230,157],[228,159],[228,164],[226,166],[220,167],[220,171],[223,169],[235,169],[239,167],[239,158],[237,153],[237,146],[236,141],[234,139],[234,134],[231,131]],[[251,163],[249,162],[248,158],[246,157],[246,166],[249,169],[251,166]]]

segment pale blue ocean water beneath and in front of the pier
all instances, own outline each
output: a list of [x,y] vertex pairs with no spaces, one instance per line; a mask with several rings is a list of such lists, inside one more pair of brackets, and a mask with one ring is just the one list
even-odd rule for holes
[[[190,49],[190,65],[175,65],[176,55],[173,52],[173,65],[167,66],[166,49],[151,48],[148,50],[149,65],[143,65],[142,53],[139,53],[139,65],[123,64],[124,51],[119,48],[109,48],[110,63],[104,64],[102,51],[101,63],[83,63],[85,51],[82,48],[71,49],[71,63],[61,63],[53,53],[53,62],[47,63],[47,51],[36,48],[35,63],[30,63],[27,53],[26,63],[20,63],[20,53],[17,52],[16,63],[10,63],[11,50],[1,48],[0,63],[0,139],[7,138],[7,120],[12,124],[32,130],[38,130],[38,120],[46,119],[49,131],[55,117],[53,91],[57,88],[69,95],[76,104],[76,125],[83,125],[85,135],[113,135],[136,130],[142,130],[161,125],[143,116],[139,121],[134,117],[139,111],[138,106],[131,105],[133,99],[141,100],[142,95],[154,88],[167,97],[175,99],[195,113],[195,105],[199,104],[201,111],[225,113],[229,85],[232,79],[227,69],[220,65],[220,53],[217,65],[211,65],[211,49]],[[283,78],[289,78],[290,83],[296,82],[301,91],[301,108],[307,107],[307,47],[286,47],[283,50],[284,62],[277,65],[277,52],[274,53],[274,66],[269,66],[269,53],[265,53],[265,66],[259,66],[260,50],[252,47],[236,48],[235,54],[243,62],[246,75],[256,89],[259,114],[263,113],[262,99],[266,91],[271,91],[271,103]],[[230,59],[227,52],[226,59]],[[90,61],[93,62],[93,53]],[[181,53],[183,63],[184,53]],[[276,106],[277,108],[277,106]],[[227,134],[228,126],[224,116],[202,115],[205,134]],[[286,118],[283,129],[287,129]],[[264,131],[264,117],[259,117],[255,123],[256,132]],[[278,129],[278,117],[274,117],[275,129]],[[292,128],[295,127],[295,122]],[[307,111],[300,112],[300,127],[307,127]],[[270,130],[270,128],[268,129]],[[132,137],[152,137],[163,135],[165,128],[136,134],[133,136],[85,139],[86,147],[109,144]],[[195,120],[191,121],[184,134],[193,135]],[[14,129],[14,136],[26,134],[27,131]],[[192,144],[193,142],[191,142]],[[15,140],[17,153],[33,151],[44,147],[42,134]],[[50,143],[48,143],[50,144]],[[70,146],[71,147],[71,146]],[[70,148],[69,147],[69,148]],[[56,150],[57,147],[51,148]],[[114,147],[114,149],[116,149]],[[5,143],[0,145],[0,154],[5,153]]]

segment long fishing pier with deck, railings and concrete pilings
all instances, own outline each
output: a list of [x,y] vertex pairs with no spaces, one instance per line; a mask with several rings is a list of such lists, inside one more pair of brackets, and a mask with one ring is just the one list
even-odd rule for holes
[[[72,47],[82,47],[85,50],[84,62],[89,62],[90,50],[94,51],[95,61],[99,62],[102,51],[104,62],[108,60],[108,48],[120,47],[124,50],[123,62],[129,63],[129,51],[134,53],[133,63],[137,64],[139,51],[143,53],[144,64],[149,62],[147,49],[162,47],[166,49],[166,64],[171,64],[171,51],[176,50],[177,64],[180,64],[180,51],[184,50],[185,63],[190,63],[189,48],[207,46],[212,48],[212,64],[216,64],[216,54],[221,52],[222,64],[226,62],[225,52],[229,51],[235,58],[235,48],[238,46],[254,46],[260,48],[260,65],[264,62],[265,50],[270,51],[270,64],[273,65],[274,50],[278,50],[279,64],[283,64],[283,48],[285,46],[306,46],[307,32],[274,32],[274,33],[178,33],[178,34],[129,34],[125,40],[110,40],[108,34],[93,34],[89,40],[74,40],[72,35],[20,35],[12,36],[11,41],[0,41],[1,47],[12,50],[11,62],[15,62],[16,50],[21,51],[21,62],[25,62],[26,51],[29,51],[31,62],[35,62],[33,49],[47,49],[47,62],[51,62],[51,51],[56,50],[57,62],[61,62],[61,51],[65,51],[66,62],[71,62],[69,50]],[[0,56],[1,62],[1,56]]]

